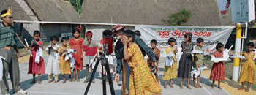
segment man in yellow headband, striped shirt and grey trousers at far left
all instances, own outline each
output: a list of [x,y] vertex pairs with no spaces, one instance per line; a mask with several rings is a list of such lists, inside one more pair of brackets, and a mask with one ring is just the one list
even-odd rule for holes
[[1,94],[10,95],[7,82],[8,72],[12,81],[12,88],[15,93],[26,94],[26,91],[20,89],[20,70],[18,64],[18,47],[15,42],[15,29],[12,27],[12,12],[6,9],[1,12],[0,24],[0,56],[3,56],[3,80],[0,81]]

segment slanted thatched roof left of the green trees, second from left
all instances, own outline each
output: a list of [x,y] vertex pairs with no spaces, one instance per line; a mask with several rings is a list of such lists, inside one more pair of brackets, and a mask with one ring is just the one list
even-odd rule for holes
[[78,22],[78,13],[69,1],[25,0],[41,21]]

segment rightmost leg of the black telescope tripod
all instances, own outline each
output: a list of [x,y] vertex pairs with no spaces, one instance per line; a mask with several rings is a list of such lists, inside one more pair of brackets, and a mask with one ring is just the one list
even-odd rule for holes
[[112,77],[111,77],[111,74],[110,74],[110,68],[109,68],[109,64],[108,64],[108,58],[107,58],[107,64],[105,66],[105,70],[107,70],[107,76],[108,76],[108,82],[109,82],[109,86],[110,86],[111,95],[115,95],[113,82],[112,82]]

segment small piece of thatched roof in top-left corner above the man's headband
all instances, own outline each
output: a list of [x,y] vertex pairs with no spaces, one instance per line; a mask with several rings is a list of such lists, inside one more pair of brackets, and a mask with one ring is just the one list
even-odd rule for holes
[[14,20],[32,21],[29,15],[26,14],[26,12],[20,7],[20,4],[18,4],[15,0],[1,0],[0,11],[3,11],[7,8],[12,9]]

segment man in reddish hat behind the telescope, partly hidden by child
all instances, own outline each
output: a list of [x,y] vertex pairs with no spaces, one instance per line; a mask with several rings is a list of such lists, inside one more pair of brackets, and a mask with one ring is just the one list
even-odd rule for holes
[[[115,36],[116,37],[120,37],[121,38],[121,35],[122,35],[122,32],[124,31],[124,26],[121,26],[121,25],[116,25],[114,26],[111,30],[115,32]],[[143,53],[143,56],[146,56],[146,54],[151,58],[151,60],[155,63],[156,63],[156,58],[155,58],[155,55],[153,53],[153,51],[151,50],[150,47],[148,47],[148,45],[146,45],[146,43],[140,38],[138,37],[138,35],[135,35],[135,40],[134,42],[140,47],[140,50],[141,52]],[[116,54],[116,64],[117,64],[117,67],[116,67],[116,75],[115,75],[115,80],[118,82],[118,85],[121,86],[121,83],[120,83],[120,72],[121,72],[121,69],[122,69],[122,60],[124,58],[124,54],[123,54],[123,50],[124,50],[124,45],[123,43],[121,42],[121,40],[119,39],[117,42],[116,42],[116,46],[115,46],[115,54]],[[127,76],[126,76],[126,93],[128,93],[128,88],[129,88],[129,66],[127,64],[126,66],[126,72],[127,72]]]

